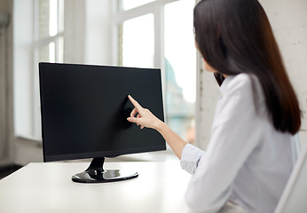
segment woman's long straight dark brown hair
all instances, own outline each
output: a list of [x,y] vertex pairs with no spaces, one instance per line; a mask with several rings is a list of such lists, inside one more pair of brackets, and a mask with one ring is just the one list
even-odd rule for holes
[[195,40],[201,55],[223,75],[256,75],[276,130],[295,134],[301,111],[270,22],[257,0],[202,0],[194,8]]

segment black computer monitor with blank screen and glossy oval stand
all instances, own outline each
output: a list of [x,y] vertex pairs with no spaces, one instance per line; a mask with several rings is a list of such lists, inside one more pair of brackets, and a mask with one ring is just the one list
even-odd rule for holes
[[105,157],[166,149],[156,130],[127,121],[134,107],[129,94],[164,121],[160,69],[39,63],[39,78],[43,161],[93,158],[73,181],[138,177],[103,170]]

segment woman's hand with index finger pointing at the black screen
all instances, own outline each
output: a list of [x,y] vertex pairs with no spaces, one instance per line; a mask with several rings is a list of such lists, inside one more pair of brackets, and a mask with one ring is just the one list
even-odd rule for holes
[[[128,96],[131,103],[134,106],[134,109],[130,113],[130,117],[127,118],[129,122],[135,122],[141,129],[144,127],[152,128],[154,130],[158,130],[163,122],[159,120],[156,116],[154,116],[148,109],[143,108],[138,104],[138,101],[133,99],[130,95]],[[137,117],[136,117],[136,114]]]

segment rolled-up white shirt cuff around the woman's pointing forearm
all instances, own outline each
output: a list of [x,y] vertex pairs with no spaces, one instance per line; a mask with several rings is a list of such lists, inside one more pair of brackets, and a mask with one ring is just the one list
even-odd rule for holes
[[194,174],[202,154],[205,154],[205,152],[198,147],[186,144],[181,155],[181,168],[190,174]]

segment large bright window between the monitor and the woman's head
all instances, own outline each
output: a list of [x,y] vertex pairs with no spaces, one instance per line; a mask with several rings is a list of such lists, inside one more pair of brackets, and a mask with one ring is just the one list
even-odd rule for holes
[[159,67],[165,119],[186,141],[195,139],[196,50],[191,0],[119,0],[114,13],[115,64]]

